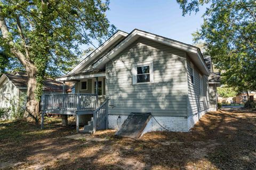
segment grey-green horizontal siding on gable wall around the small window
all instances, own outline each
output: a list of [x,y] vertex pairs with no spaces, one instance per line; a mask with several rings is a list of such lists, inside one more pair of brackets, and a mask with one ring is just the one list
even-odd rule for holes
[[[132,64],[153,61],[154,83],[132,85]],[[106,65],[109,115],[187,116],[185,52],[139,38]]]

